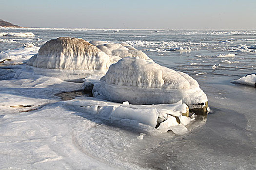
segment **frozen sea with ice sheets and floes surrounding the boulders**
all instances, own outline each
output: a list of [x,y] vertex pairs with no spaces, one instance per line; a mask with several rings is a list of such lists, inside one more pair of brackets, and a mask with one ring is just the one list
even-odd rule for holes
[[[256,88],[231,83],[256,73],[256,31],[0,28],[0,35],[24,32],[35,36],[0,36],[1,54],[18,58],[0,63],[0,170],[256,169]],[[79,90],[80,83],[15,78],[41,45],[59,36],[125,42],[189,74],[208,97],[207,120],[184,135],[141,140],[139,130],[82,113],[53,95]],[[17,105],[26,107],[11,107]]]

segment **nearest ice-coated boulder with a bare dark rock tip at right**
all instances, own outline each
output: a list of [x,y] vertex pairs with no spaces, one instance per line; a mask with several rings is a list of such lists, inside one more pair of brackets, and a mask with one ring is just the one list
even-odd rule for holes
[[207,96],[189,75],[139,57],[126,57],[110,66],[94,96],[132,104],[175,103],[182,100],[196,112],[208,107]]

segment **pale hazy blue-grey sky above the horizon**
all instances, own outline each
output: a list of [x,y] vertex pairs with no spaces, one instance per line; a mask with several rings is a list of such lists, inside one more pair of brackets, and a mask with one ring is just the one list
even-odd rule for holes
[[253,29],[256,0],[0,0],[23,27]]

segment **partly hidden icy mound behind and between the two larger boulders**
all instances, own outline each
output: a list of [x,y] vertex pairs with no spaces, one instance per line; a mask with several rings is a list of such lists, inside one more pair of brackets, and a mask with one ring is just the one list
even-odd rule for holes
[[101,51],[118,61],[124,57],[140,57],[151,60],[144,52],[138,51],[134,47],[124,43],[110,43],[107,41],[90,41],[91,44],[97,46]]

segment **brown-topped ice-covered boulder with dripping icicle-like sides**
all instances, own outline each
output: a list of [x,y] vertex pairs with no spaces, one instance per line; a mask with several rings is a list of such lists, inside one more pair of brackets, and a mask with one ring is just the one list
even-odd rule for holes
[[47,41],[28,65],[55,69],[108,69],[109,56],[80,38],[59,37]]

